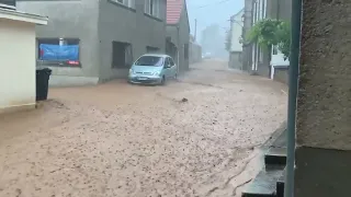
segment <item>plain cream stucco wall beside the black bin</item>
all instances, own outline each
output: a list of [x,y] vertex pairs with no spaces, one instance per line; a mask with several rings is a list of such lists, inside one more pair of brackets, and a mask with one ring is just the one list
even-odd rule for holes
[[35,105],[35,25],[0,19],[0,113]]

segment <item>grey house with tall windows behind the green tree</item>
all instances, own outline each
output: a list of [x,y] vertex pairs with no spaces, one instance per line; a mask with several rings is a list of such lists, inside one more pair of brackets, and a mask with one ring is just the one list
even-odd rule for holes
[[[245,38],[250,28],[260,20],[276,19],[290,21],[291,9],[292,0],[246,0],[242,37]],[[273,78],[273,67],[287,68],[288,61],[284,60],[284,55],[276,46],[272,47],[272,51],[268,51],[257,43],[252,43],[244,45],[242,49],[242,68],[248,72]]]

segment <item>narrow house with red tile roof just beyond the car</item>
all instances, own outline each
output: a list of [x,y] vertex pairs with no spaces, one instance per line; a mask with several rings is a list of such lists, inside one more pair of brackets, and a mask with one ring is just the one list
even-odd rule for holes
[[189,70],[190,24],[185,0],[167,0],[166,53],[177,65],[178,72]]

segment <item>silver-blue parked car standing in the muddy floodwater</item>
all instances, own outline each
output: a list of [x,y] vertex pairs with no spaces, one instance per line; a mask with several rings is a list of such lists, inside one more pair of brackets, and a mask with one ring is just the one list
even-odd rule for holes
[[131,67],[131,83],[165,84],[168,79],[177,79],[178,69],[168,55],[146,54]]

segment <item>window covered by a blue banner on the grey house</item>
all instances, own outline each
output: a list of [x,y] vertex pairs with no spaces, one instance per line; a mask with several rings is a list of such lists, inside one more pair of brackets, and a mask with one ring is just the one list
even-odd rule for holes
[[81,66],[78,38],[38,38],[38,63],[50,66]]

